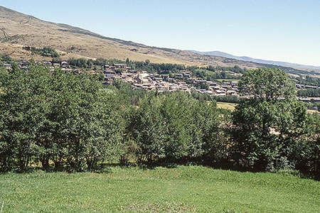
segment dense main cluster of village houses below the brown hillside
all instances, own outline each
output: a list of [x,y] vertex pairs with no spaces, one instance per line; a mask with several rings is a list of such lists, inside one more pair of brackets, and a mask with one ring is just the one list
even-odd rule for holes
[[[116,70],[122,71],[116,72]],[[132,70],[126,64],[114,64],[112,66],[105,65],[102,73],[105,75],[104,84],[112,84],[114,80],[123,80],[132,84],[133,89],[146,89],[154,92],[176,92],[177,90],[191,92],[192,89],[195,89],[196,92],[201,94],[238,96],[238,82],[218,84],[217,82],[197,79],[188,70],[183,70],[182,73],[175,73],[170,77],[169,72],[152,74]],[[208,84],[208,86],[205,86],[207,89],[201,89],[197,88],[196,84]]]

